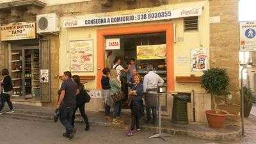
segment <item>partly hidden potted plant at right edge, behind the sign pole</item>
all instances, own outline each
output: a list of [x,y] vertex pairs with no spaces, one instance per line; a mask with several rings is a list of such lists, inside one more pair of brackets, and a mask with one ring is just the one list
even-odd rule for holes
[[[250,88],[243,86],[244,92],[244,117],[248,118],[250,116],[252,105],[256,103],[255,93],[252,92]],[[240,90],[241,95],[241,90]]]

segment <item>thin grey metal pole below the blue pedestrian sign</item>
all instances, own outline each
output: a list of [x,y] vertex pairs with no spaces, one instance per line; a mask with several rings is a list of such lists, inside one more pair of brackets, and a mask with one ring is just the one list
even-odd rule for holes
[[249,57],[246,64],[241,64],[243,67],[241,70],[241,127],[242,127],[242,136],[244,136],[244,88],[243,88],[243,70],[251,61],[251,56]]

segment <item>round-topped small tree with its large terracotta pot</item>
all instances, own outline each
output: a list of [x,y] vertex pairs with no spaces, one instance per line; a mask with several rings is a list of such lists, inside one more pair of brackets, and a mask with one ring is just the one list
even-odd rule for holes
[[214,109],[205,111],[209,127],[218,129],[225,122],[227,113],[217,109],[216,97],[225,99],[230,94],[230,79],[223,68],[210,68],[205,70],[201,79],[201,86],[206,92],[211,93]]

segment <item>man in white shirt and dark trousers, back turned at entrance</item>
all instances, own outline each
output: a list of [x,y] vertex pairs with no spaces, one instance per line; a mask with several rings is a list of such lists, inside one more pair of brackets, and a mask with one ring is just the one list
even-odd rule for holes
[[143,79],[143,92],[145,93],[145,103],[147,107],[147,123],[150,122],[150,110],[152,109],[151,124],[156,124],[156,108],[157,108],[157,86],[162,86],[164,80],[155,72],[153,65],[147,65],[148,74]]

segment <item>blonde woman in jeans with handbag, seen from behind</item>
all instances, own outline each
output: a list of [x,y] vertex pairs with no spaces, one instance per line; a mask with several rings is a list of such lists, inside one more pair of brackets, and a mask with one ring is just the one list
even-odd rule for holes
[[117,72],[115,69],[110,71],[110,94],[112,99],[114,100],[114,113],[113,113],[113,122],[112,124],[120,124],[122,120],[120,120],[121,110],[122,110],[122,102],[123,99],[121,84],[117,79]]

